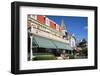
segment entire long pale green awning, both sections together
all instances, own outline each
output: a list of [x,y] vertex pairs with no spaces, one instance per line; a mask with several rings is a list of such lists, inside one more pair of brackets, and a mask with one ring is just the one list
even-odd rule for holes
[[56,40],[51,40],[45,37],[33,36],[33,43],[38,45],[40,48],[51,48],[51,49],[65,49],[65,50],[73,50],[70,45],[67,43],[63,43]]

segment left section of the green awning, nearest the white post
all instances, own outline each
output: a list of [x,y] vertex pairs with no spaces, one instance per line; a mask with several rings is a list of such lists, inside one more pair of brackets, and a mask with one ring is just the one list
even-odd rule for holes
[[[52,48],[56,49],[57,47],[52,43],[50,39],[41,36],[33,36],[33,40],[37,43],[38,47],[40,48]],[[33,41],[33,42],[34,42]]]

